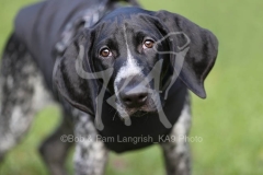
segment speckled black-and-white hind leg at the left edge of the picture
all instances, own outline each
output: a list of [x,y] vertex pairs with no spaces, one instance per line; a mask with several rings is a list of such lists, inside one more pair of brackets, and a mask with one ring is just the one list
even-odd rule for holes
[[52,100],[25,46],[11,37],[1,66],[0,158],[27,131],[36,112]]

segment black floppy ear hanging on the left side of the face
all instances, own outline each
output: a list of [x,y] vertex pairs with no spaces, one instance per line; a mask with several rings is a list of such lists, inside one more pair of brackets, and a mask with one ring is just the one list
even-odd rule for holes
[[[94,114],[96,83],[93,79],[81,78],[80,71],[92,72],[90,49],[92,45],[91,32],[84,31],[68,46],[64,56],[56,60],[54,69],[54,85],[72,106]],[[79,58],[79,57],[83,58]],[[82,61],[82,70],[78,70],[78,61]],[[89,107],[88,107],[89,106]],[[92,108],[93,107],[93,108]]]

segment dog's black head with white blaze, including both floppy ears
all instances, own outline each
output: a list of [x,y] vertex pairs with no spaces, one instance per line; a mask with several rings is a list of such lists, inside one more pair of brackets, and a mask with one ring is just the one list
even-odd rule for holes
[[[187,42],[187,52],[179,68],[176,59],[182,57],[178,54]],[[209,31],[179,14],[117,9],[76,37],[57,63],[55,80],[59,92],[84,112],[89,113],[90,105],[96,103],[87,101],[95,100],[104,86],[116,95],[114,103],[121,117],[140,116],[162,106],[160,91],[173,82],[174,73],[196,95],[205,97],[204,80],[214,66],[217,47]],[[98,80],[83,79],[76,70],[80,56],[81,69],[96,72]]]

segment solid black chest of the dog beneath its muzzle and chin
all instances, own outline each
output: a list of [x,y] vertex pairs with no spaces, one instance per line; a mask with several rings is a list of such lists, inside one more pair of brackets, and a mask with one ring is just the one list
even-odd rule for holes
[[[173,126],[181,115],[186,96],[186,89],[181,89],[163,107],[165,117]],[[106,100],[107,97],[105,97]],[[102,106],[102,124],[104,129],[96,139],[102,140],[106,147],[115,152],[125,152],[163,142],[171,127],[161,120],[164,116],[149,114],[141,117],[132,117],[132,125],[126,126],[118,117],[117,112],[107,103]]]

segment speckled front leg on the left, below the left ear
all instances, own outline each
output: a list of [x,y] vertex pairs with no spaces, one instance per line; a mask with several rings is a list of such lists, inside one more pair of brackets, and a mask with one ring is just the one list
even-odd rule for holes
[[79,113],[76,117],[76,175],[103,175],[107,162],[107,149],[98,139],[98,132],[90,116]]

